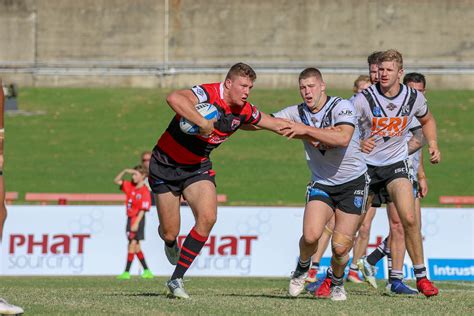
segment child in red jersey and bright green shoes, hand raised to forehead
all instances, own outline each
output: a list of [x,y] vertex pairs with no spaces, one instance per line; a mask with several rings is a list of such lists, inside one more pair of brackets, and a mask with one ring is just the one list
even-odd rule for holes
[[[127,173],[132,175],[132,181],[122,179]],[[115,184],[119,185],[127,196],[125,203],[128,217],[128,256],[125,271],[117,277],[120,280],[130,279],[130,267],[135,255],[143,266],[142,278],[153,278],[140,247],[140,241],[145,239],[145,212],[148,212],[151,207],[150,190],[145,185],[147,175],[147,170],[142,165],[138,165],[134,169],[122,170],[114,179]]]

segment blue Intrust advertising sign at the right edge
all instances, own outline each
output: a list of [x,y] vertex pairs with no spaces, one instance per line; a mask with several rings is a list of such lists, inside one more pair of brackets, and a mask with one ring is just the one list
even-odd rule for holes
[[474,259],[428,259],[432,280],[474,281]]

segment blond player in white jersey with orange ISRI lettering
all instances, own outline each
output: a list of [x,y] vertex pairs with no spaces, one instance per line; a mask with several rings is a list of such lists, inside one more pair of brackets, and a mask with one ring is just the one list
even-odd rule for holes
[[[426,277],[420,222],[415,212],[415,199],[408,175],[408,146],[406,133],[412,119],[418,119],[428,142],[430,162],[441,160],[438,149],[436,122],[429,112],[422,93],[400,84],[403,58],[396,50],[387,50],[378,58],[379,83],[364,90],[354,99],[360,115],[360,126],[374,138],[373,150],[365,155],[371,177],[371,195],[385,189],[394,202],[405,232],[408,254],[413,262],[417,288],[425,296],[438,294],[438,289]],[[416,118],[415,118],[416,117]],[[391,242],[391,248],[397,247]],[[392,252],[393,264],[399,254]],[[395,266],[394,266],[395,268]],[[392,270],[393,271],[393,270]],[[390,275],[402,282],[403,275]]]

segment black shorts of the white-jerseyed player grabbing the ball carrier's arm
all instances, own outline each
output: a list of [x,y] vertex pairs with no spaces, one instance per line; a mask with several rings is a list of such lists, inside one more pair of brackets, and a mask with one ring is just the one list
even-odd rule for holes
[[339,185],[311,182],[306,190],[306,201],[322,201],[333,210],[337,208],[344,213],[361,215],[365,213],[369,182],[367,173]]

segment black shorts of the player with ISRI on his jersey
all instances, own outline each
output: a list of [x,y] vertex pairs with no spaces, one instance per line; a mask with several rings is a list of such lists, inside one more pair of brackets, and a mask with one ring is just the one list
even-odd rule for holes
[[[408,164],[405,160],[396,162],[388,166],[367,165],[370,176],[369,194],[380,195],[383,199],[388,196],[387,185],[395,179],[405,178],[410,180],[408,175]],[[387,202],[387,201],[385,201]],[[390,202],[390,200],[388,201]]]

